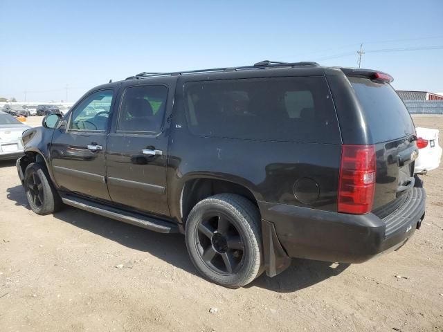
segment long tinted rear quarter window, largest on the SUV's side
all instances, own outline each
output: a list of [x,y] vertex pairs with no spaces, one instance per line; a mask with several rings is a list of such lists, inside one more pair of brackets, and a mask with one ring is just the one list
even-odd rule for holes
[[189,82],[190,130],[199,136],[340,143],[324,77]]

